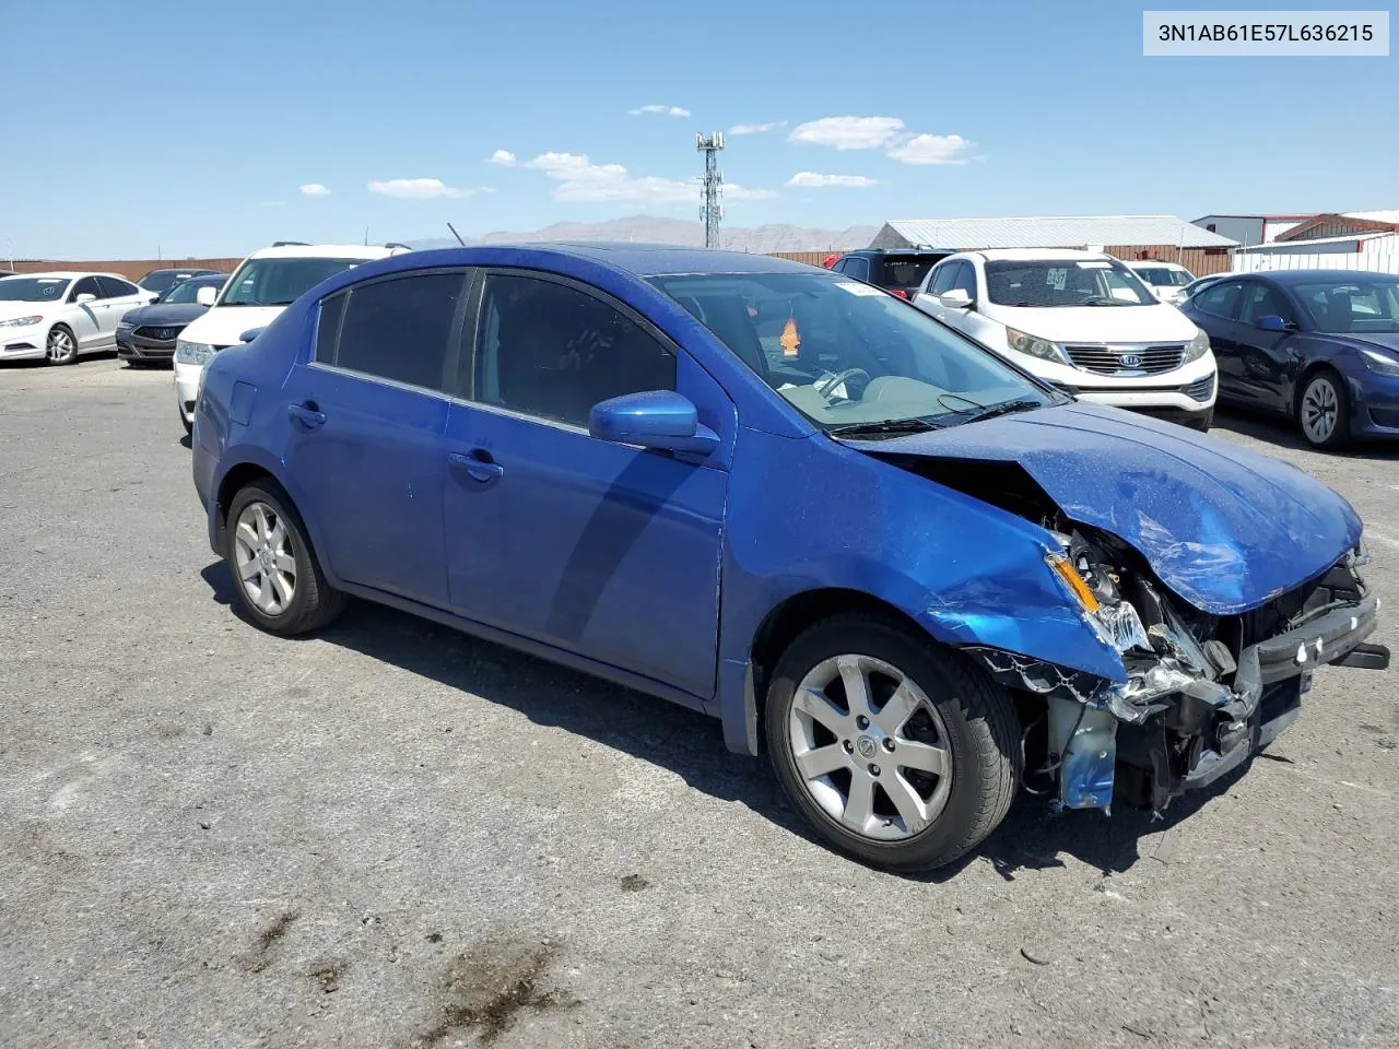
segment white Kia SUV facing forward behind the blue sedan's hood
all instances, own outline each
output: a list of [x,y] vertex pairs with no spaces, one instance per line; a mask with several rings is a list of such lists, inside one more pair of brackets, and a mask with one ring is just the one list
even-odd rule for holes
[[929,270],[914,305],[1083,400],[1199,431],[1214,420],[1209,336],[1112,256],[960,252]]

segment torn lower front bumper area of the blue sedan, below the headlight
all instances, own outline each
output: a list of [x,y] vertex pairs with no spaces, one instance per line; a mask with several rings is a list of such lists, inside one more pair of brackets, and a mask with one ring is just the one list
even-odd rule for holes
[[1149,628],[1151,653],[1123,655],[1125,683],[999,649],[967,652],[1002,684],[1044,698],[1048,759],[1031,772],[1056,782],[1056,807],[1108,808],[1116,799],[1160,811],[1287,729],[1318,666],[1389,666],[1389,650],[1365,642],[1379,599],[1350,565],[1333,572],[1361,596],[1298,614],[1288,629],[1244,646],[1198,641],[1163,604],[1163,620]]

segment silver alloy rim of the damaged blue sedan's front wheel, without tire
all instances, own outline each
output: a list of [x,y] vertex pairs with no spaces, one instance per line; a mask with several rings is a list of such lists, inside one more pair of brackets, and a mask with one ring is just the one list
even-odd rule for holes
[[827,817],[865,838],[901,841],[932,827],[951,793],[947,738],[918,683],[873,656],[825,659],[792,697],[797,778]]

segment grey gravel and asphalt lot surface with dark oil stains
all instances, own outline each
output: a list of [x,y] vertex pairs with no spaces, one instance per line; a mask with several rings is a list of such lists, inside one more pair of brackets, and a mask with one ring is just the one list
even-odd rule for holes
[[[1399,1042],[1395,674],[1318,676],[1165,820],[1023,797],[881,874],[716,722],[368,606],[236,618],[169,386],[0,368],[0,1043]],[[1217,432],[1350,498],[1399,607],[1399,453]]]

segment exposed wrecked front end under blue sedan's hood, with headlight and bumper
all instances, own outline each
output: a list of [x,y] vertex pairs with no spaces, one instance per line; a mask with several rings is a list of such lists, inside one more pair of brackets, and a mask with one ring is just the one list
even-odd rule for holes
[[1003,649],[963,649],[1025,701],[1023,786],[1058,808],[1119,800],[1161,811],[1288,727],[1316,666],[1389,664],[1388,649],[1365,643],[1379,600],[1358,571],[1363,544],[1259,607],[1210,615],[1130,544],[1070,520],[1017,463],[881,457],[1045,529],[1058,545],[1048,566],[1121,656],[1125,681],[1109,681]]

